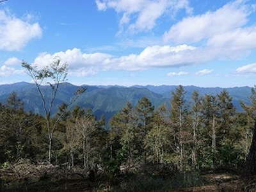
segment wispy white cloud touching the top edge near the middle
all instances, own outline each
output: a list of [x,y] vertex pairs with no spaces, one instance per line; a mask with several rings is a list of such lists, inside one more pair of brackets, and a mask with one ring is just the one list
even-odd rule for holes
[[127,27],[131,33],[148,31],[156,26],[156,21],[166,12],[175,14],[185,9],[192,12],[188,0],[96,0],[97,8],[104,11],[113,8],[122,14],[120,19],[120,31]]

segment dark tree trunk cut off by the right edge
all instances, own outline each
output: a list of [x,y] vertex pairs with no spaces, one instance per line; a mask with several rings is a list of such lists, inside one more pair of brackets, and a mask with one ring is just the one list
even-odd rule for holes
[[250,147],[249,154],[246,158],[246,175],[256,174],[256,119],[253,129],[252,144]]

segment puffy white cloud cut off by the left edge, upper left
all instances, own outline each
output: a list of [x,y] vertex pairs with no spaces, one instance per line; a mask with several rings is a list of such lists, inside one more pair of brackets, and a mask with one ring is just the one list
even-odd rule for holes
[[40,38],[42,29],[36,23],[22,20],[0,10],[0,50],[20,51],[33,38]]

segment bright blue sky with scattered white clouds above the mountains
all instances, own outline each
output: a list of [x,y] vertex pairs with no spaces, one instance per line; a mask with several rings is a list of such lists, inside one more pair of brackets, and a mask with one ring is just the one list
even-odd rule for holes
[[0,84],[56,58],[77,85],[254,86],[256,1],[0,3]]

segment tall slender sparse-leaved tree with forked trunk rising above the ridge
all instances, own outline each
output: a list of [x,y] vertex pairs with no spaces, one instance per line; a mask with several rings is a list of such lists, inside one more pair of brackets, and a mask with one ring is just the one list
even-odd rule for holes
[[[65,115],[65,113],[67,112],[67,110],[63,111],[63,113],[52,122],[52,108],[54,101],[56,100],[56,95],[59,91],[60,84],[67,81],[68,65],[67,63],[61,63],[60,60],[56,59],[49,66],[44,68],[37,68],[36,66],[29,65],[26,62],[22,62],[22,67],[26,68],[28,75],[32,78],[33,82],[35,83],[38,93],[40,94],[42,100],[49,138],[49,163],[51,163],[52,137],[54,131],[56,130],[58,122],[61,120],[62,116]],[[49,84],[49,86],[51,87],[50,92],[44,93],[44,88],[42,87],[43,84]],[[75,93],[74,97],[72,98],[70,104],[68,104],[68,106],[70,106],[77,99],[77,97],[79,97],[79,95],[84,93],[84,91],[84,88],[79,88]]]

